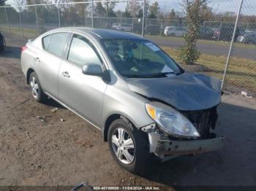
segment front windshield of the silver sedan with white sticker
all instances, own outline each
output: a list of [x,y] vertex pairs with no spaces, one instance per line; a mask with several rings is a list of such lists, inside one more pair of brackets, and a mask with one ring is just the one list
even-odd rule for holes
[[146,40],[105,39],[105,49],[123,77],[166,77],[181,69],[157,45]]

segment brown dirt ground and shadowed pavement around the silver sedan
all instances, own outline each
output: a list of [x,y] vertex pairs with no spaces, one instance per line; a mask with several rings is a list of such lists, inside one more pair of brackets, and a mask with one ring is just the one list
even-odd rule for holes
[[0,54],[1,186],[256,185],[255,98],[222,97],[217,133],[227,137],[224,149],[152,163],[148,175],[135,176],[114,162],[99,130],[55,101],[33,101],[20,70],[23,44],[7,39]]

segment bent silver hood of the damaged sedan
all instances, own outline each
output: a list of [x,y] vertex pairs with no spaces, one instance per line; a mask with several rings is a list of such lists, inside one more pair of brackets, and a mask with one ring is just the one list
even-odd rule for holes
[[221,101],[221,81],[191,71],[171,77],[126,80],[135,93],[163,101],[178,110],[208,109]]

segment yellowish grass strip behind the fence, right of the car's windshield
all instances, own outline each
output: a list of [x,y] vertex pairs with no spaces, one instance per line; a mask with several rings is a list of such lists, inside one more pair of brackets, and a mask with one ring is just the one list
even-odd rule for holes
[[[178,50],[170,47],[162,47],[168,55],[174,58],[181,67],[188,70],[199,71],[212,77],[222,79],[227,57],[224,55],[201,54],[197,60],[200,69],[195,66],[187,66],[181,63],[178,58]],[[227,71],[225,87],[236,87],[239,90],[246,90],[256,93],[256,61],[246,58],[230,58]]]

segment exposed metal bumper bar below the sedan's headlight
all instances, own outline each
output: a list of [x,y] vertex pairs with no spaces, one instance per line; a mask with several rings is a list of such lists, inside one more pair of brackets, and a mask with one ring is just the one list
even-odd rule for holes
[[225,145],[225,137],[201,140],[158,140],[157,155],[185,155],[210,152],[221,149]]

